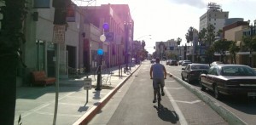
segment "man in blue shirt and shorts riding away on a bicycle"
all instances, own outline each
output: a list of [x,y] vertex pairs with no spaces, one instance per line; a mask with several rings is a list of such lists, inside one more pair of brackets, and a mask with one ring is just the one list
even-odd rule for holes
[[160,64],[160,59],[157,58],[155,60],[155,64],[151,65],[150,67],[150,78],[153,79],[153,88],[154,88],[154,99],[153,103],[156,102],[156,91],[160,84],[161,94],[162,96],[165,95],[164,93],[164,86],[165,86],[165,79],[166,79],[166,67]]

